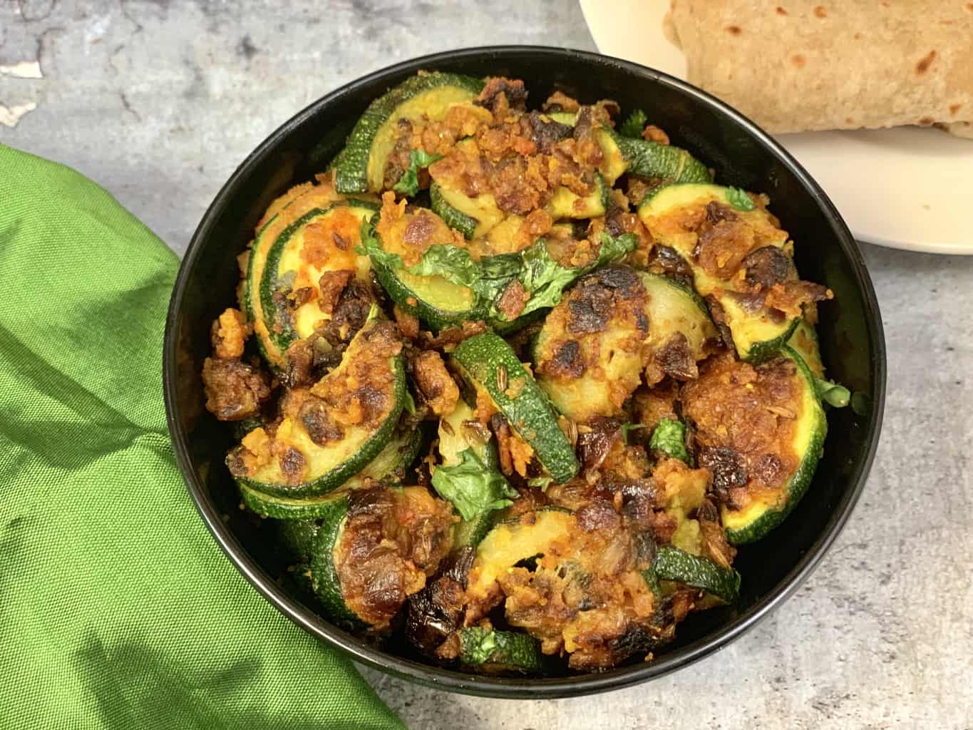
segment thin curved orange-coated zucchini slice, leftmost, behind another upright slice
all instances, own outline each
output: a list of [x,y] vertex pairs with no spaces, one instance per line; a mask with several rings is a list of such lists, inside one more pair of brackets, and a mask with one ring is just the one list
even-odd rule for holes
[[247,319],[253,324],[254,334],[261,354],[270,367],[282,369],[287,360],[284,350],[277,347],[267,324],[261,301],[261,286],[264,272],[267,268],[270,249],[281,232],[294,221],[301,218],[310,210],[326,209],[341,200],[330,184],[299,185],[285,195],[270,203],[270,215],[267,222],[257,232],[253,243],[250,244],[250,255],[247,260],[247,272],[241,292],[241,306]]

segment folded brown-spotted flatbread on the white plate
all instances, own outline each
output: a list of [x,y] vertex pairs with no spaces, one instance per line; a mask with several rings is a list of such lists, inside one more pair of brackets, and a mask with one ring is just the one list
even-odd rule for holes
[[968,0],[671,0],[667,25],[689,82],[768,131],[973,138]]

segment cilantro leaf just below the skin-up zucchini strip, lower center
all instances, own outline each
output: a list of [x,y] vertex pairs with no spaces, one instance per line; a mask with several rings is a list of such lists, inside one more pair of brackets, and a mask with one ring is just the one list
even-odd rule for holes
[[469,521],[513,504],[518,493],[502,474],[486,468],[472,449],[464,449],[458,456],[458,464],[436,467],[432,473],[432,486],[452,503],[460,517]]

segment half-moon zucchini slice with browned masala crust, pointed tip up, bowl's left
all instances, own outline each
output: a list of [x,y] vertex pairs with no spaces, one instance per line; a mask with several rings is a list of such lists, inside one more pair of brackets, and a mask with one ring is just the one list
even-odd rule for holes
[[378,308],[341,363],[292,391],[270,434],[257,428],[227,457],[243,487],[292,499],[332,492],[388,444],[406,402],[402,343]]

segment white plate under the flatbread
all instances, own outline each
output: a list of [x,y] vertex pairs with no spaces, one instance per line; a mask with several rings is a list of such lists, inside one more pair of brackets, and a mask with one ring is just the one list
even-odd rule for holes
[[[663,34],[667,8],[667,0],[581,0],[602,54],[685,79],[686,60]],[[922,128],[776,139],[820,183],[859,240],[973,254],[973,140]]]

